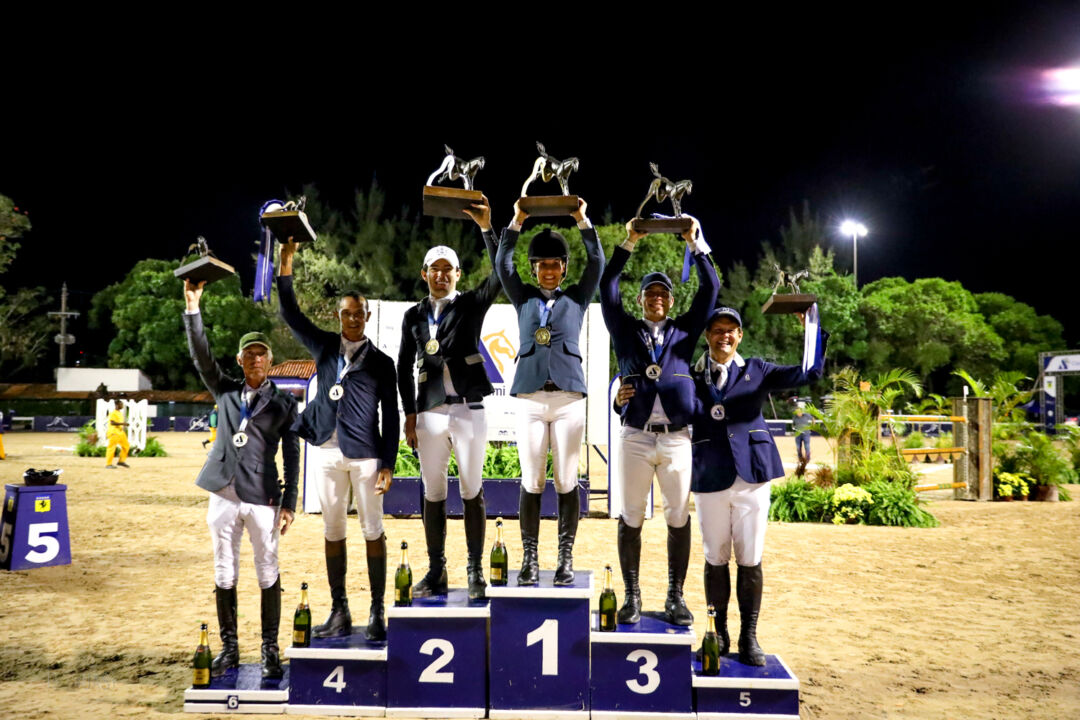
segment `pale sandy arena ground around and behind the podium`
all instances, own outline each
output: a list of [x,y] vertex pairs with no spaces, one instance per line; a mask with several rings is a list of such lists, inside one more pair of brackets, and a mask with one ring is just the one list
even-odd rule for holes
[[[0,624],[8,628],[0,648],[3,717],[183,711],[199,623],[216,628],[206,493],[193,485],[204,437],[165,433],[172,456],[135,458],[130,471],[106,471],[100,459],[44,448],[73,445],[73,435],[3,437],[4,483],[21,483],[27,467],[65,470],[73,557],[66,567],[0,572]],[[782,443],[782,451],[791,453],[792,445]],[[814,452],[826,458],[823,444]],[[1080,487],[1071,490],[1080,498]],[[943,499],[930,510],[940,528],[770,526],[758,637],[801,680],[801,717],[1080,717],[1080,502]],[[511,562],[519,561],[516,527],[508,525]],[[492,521],[489,538],[494,530]],[[544,521],[540,532],[542,567],[554,567],[554,522]],[[359,538],[359,525],[350,525],[350,533]],[[413,566],[423,570],[418,519],[389,519],[387,535],[391,545],[407,540],[417,548]],[[705,613],[697,535],[687,590],[700,635]],[[577,567],[618,567],[615,536],[615,520],[583,520]],[[654,579],[644,583],[645,606],[660,609],[666,576],[660,518],[646,524],[645,536],[643,576]],[[283,643],[301,581],[311,585],[319,622],[327,611],[322,546],[316,516],[300,515],[282,540]],[[258,662],[258,592],[246,541],[244,553],[241,653],[244,662]],[[464,583],[464,555],[461,522],[451,521],[451,584]],[[621,598],[618,580],[616,590]],[[363,622],[363,561],[351,563],[349,593]],[[738,623],[733,599],[730,617]],[[215,651],[219,644],[212,639]]]

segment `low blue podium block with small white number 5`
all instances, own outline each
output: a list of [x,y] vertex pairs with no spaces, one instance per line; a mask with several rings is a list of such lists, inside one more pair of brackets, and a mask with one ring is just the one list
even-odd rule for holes
[[765,666],[754,667],[728,653],[715,676],[701,675],[694,661],[693,704],[701,720],[798,720],[799,679],[779,655],[766,655]]

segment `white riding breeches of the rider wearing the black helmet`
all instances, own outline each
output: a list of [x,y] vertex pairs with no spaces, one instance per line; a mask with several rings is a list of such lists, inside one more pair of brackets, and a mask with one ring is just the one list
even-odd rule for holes
[[543,492],[551,448],[555,490],[559,494],[578,487],[578,461],[585,436],[585,398],[562,390],[517,396],[517,456],[522,462],[522,487]]

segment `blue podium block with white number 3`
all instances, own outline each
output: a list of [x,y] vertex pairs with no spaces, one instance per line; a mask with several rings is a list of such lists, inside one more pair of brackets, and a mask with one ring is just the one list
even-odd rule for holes
[[594,612],[590,634],[594,720],[694,718],[691,628],[672,625],[656,612],[642,613],[633,625],[616,625],[615,633],[598,628]]

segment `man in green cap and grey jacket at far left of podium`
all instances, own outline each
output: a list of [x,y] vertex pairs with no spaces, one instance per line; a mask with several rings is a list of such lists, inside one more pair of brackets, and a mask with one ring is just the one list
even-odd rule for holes
[[[243,369],[244,379],[225,373],[203,330],[199,311],[203,285],[184,282],[184,326],[191,359],[220,409],[220,432],[195,480],[211,493],[206,524],[214,544],[217,622],[221,631],[221,652],[214,658],[212,673],[220,675],[240,664],[237,578],[240,541],[246,528],[255,552],[255,574],[262,589],[262,677],[276,679],[282,677],[278,650],[278,535],[293,524],[300,467],[299,438],[292,430],[296,399],[267,378],[273,353],[261,332],[248,332],[240,339],[237,365]],[[274,461],[279,443],[285,468],[284,491]]]

